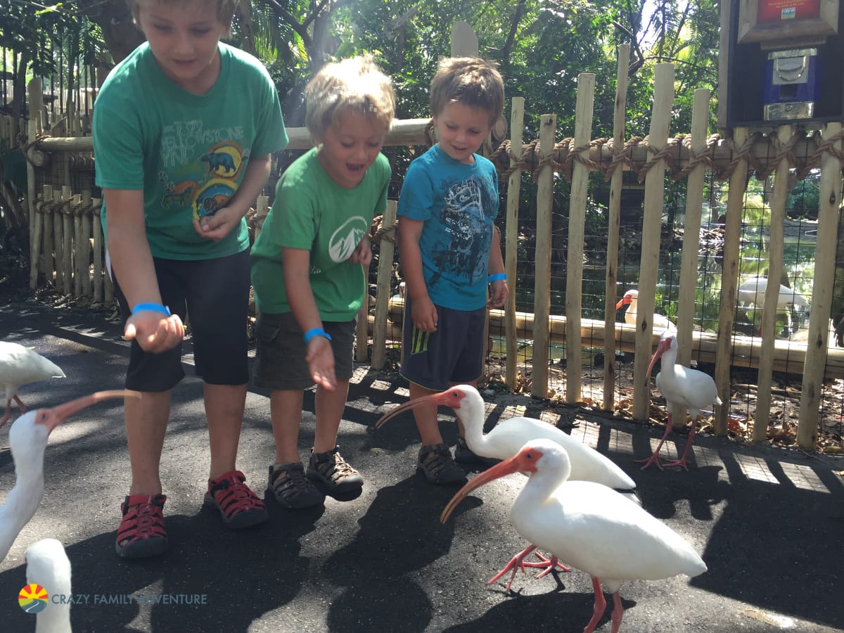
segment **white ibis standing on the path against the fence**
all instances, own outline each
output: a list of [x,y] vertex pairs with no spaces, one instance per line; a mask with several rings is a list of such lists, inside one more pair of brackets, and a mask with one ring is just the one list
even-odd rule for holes
[[710,404],[722,404],[721,398],[718,398],[717,388],[715,387],[715,381],[712,380],[712,376],[702,371],[675,364],[677,360],[677,336],[674,333],[663,333],[663,336],[659,339],[657,351],[653,354],[651,364],[647,366],[648,381],[651,380],[653,365],[660,357],[663,359],[663,368],[657,374],[657,389],[659,389],[659,392],[665,398],[668,407],[668,422],[665,424],[665,433],[663,433],[663,439],[659,441],[657,450],[653,452],[651,457],[638,461],[645,463],[641,467],[642,470],[653,463],[657,464],[660,470],[663,469],[663,464],[659,462],[659,451],[668,438],[668,433],[671,432],[671,410],[674,407],[682,407],[684,411],[688,408],[691,416],[691,428],[689,430],[689,440],[686,442],[686,447],[683,451],[683,457],[666,462],[665,465],[682,466],[686,470],[689,470],[689,467],[686,465],[686,457],[689,454],[689,447],[692,441],[695,440],[697,416],[700,414],[701,408],[707,407]]

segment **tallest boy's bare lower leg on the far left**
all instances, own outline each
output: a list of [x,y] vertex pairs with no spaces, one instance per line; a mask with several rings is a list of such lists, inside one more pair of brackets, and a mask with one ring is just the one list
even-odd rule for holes
[[129,495],[157,495],[161,492],[159,465],[170,416],[170,391],[126,398],[123,410],[132,467]]

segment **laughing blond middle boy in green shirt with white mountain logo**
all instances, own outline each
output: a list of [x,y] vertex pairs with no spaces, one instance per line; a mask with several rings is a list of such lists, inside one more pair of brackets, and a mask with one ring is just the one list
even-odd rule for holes
[[[268,485],[286,508],[317,506],[325,492],[347,495],[363,485],[336,442],[372,259],[367,235],[387,206],[390,165],[381,146],[395,111],[390,79],[370,57],[328,64],[305,95],[317,146],[284,171],[252,247],[253,381],[272,390],[276,455]],[[314,383],[317,432],[305,473],[299,424],[304,390]]]

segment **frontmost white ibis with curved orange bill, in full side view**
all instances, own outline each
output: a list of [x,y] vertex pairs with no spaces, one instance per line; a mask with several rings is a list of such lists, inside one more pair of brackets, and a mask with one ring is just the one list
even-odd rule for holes
[[584,633],[591,633],[606,609],[601,583],[613,594],[612,633],[624,615],[619,587],[629,580],[697,576],[706,563],[684,538],[641,506],[601,484],[570,481],[571,460],[553,441],[527,442],[514,457],[480,473],[442,511],[446,522],[472,490],[510,473],[527,472],[527,484],[513,502],[513,527],[531,543],[592,576],[595,604]]

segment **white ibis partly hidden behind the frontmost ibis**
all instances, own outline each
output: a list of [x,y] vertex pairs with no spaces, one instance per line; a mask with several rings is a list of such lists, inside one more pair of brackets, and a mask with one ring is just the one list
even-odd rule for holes
[[[475,455],[506,459],[515,455],[526,441],[544,438],[565,448],[571,461],[571,479],[604,484],[610,488],[624,491],[625,495],[630,495],[630,498],[637,500],[636,482],[630,479],[630,476],[609,457],[599,453],[591,446],[587,446],[582,441],[576,440],[548,422],[534,418],[508,418],[500,421],[495,429],[484,435],[484,398],[481,398],[477,389],[469,385],[457,385],[441,393],[409,400],[381,416],[381,419],[376,422],[376,429],[381,428],[387,420],[410,408],[431,405],[444,405],[454,409],[457,417],[463,423],[466,444]],[[524,571],[523,568],[526,566],[545,567],[543,574],[540,574],[540,576],[544,576],[555,565],[558,565],[557,560],[553,558],[546,560],[542,556],[539,557],[539,563],[524,562],[525,557],[531,554],[534,549],[536,549],[535,545],[523,549],[490,582],[495,582],[507,571],[512,571],[510,582],[507,583],[507,589],[509,589],[518,569]],[[564,565],[560,565],[560,567],[566,569]]]

